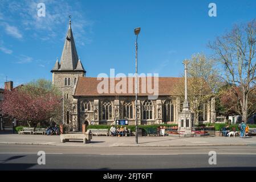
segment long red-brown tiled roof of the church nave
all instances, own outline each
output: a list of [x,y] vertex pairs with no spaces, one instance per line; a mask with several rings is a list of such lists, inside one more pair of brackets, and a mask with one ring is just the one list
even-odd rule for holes
[[[135,78],[133,77],[124,77],[124,78],[127,78],[127,84],[126,84],[127,91],[125,93],[118,93],[118,90],[114,90],[114,92],[112,93],[110,92],[110,85],[111,85],[110,81],[113,83],[115,79],[115,86],[116,86],[118,83],[121,84],[120,80],[122,80],[122,78],[104,78],[105,80],[108,80],[108,93],[99,93],[97,92],[97,87],[99,83],[103,80],[103,78],[102,80],[97,80],[96,77],[79,77],[74,96],[134,96],[135,95]],[[151,81],[150,81],[150,78],[151,78]],[[159,94],[158,94],[159,96],[171,96],[171,95],[174,96],[178,94],[177,88],[182,84],[182,79],[183,79],[182,77],[158,77],[158,78],[159,78]],[[154,77],[138,77],[138,82],[140,82],[138,87],[138,96],[153,95],[152,93],[150,93],[149,89],[152,89],[152,90],[154,89],[155,79],[156,78]],[[130,84],[128,80],[130,81]],[[146,92],[141,90],[141,80],[143,80],[143,83],[146,83],[145,85],[147,85],[147,82],[152,83],[152,86],[151,85],[148,86],[149,89],[146,89],[147,86],[143,86],[143,89],[147,90]],[[128,91],[128,84],[132,85],[133,92]]]

